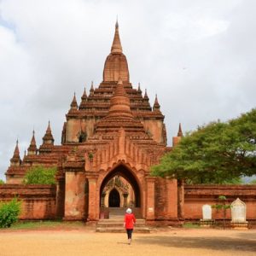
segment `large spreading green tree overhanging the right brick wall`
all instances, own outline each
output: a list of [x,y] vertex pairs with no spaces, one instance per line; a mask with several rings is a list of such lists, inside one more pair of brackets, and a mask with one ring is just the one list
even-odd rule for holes
[[256,173],[256,109],[198,127],[165,154],[152,175],[189,183],[227,183]]

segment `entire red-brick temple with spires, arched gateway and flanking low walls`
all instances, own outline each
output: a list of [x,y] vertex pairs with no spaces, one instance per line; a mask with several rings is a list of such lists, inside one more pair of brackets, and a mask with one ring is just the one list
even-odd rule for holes
[[[178,222],[201,218],[202,204],[215,202],[218,195],[230,200],[240,196],[249,218],[256,218],[256,186],[189,186],[172,177],[150,176],[150,167],[172,147],[166,146],[157,96],[151,107],[147,91],[130,82],[118,23],[102,83],[91,84],[88,94],[84,89],[79,103],[74,95],[66,119],[61,145],[54,144],[50,124],[39,147],[33,131],[22,160],[16,143],[0,200],[19,195],[20,218],[97,221],[106,209],[132,207],[148,222]],[[179,125],[173,146],[182,136]],[[57,167],[56,185],[22,184],[26,172],[38,165]]]

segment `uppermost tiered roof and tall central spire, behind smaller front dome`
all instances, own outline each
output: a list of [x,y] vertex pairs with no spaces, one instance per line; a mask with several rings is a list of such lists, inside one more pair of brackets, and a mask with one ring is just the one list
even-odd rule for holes
[[[156,111],[152,111],[149,103],[147,90],[143,96],[140,84],[137,89],[133,89],[129,79],[129,69],[125,55],[123,54],[122,45],[119,38],[119,25],[118,22],[115,26],[115,33],[111,52],[108,55],[103,71],[103,81],[94,88],[93,83],[90,87],[89,96],[84,94],[81,97],[82,101],[79,104],[79,111],[69,111],[67,119],[79,118],[82,119],[86,116],[96,116],[97,118],[105,117],[110,108],[110,98],[113,96],[119,79],[125,88],[127,96],[131,102],[131,112],[137,119],[164,119],[163,114],[160,112],[160,106]],[[71,107],[70,110],[74,109]]]

